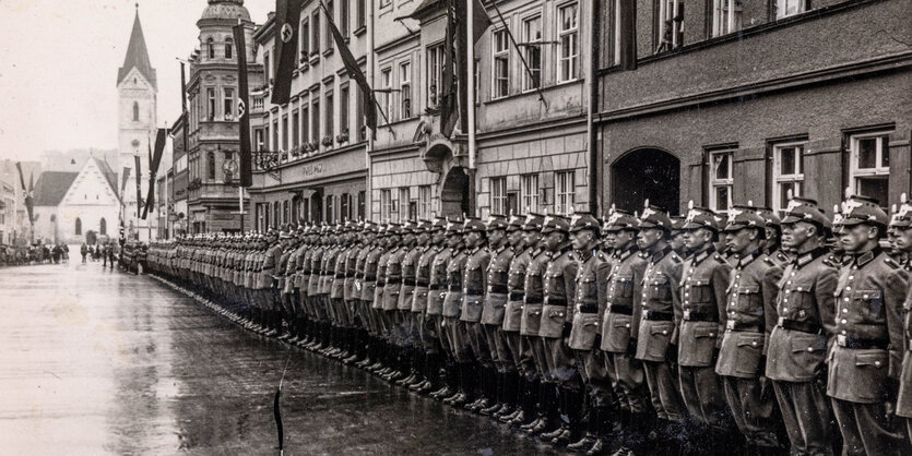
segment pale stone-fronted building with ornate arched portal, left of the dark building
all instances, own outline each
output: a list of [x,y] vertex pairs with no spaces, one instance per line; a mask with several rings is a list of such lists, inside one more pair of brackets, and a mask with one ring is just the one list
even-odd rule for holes
[[372,86],[390,124],[370,152],[372,218],[588,208],[590,3],[498,2],[501,21],[486,2],[493,24],[474,46],[474,159],[467,132],[440,134],[445,4],[381,1],[375,11]]

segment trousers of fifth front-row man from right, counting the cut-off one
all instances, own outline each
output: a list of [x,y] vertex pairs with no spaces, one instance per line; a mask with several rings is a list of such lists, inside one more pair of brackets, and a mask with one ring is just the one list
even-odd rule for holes
[[713,429],[731,428],[732,417],[722,388],[722,380],[713,367],[678,367],[680,396],[690,417]]

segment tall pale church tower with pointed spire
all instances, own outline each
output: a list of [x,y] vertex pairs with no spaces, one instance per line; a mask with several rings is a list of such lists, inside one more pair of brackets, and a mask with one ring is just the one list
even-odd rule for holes
[[[149,191],[149,149],[154,146],[155,129],[157,125],[158,85],[155,69],[149,60],[145,38],[140,24],[139,5],[133,20],[133,31],[130,34],[130,45],[123,65],[117,71],[118,93],[118,164],[117,191],[123,181],[126,168],[130,168],[127,185],[121,199],[123,200],[123,225],[130,233],[139,235],[143,241],[149,240],[150,228],[155,236],[157,216],[152,214],[146,219],[140,219],[142,207],[137,204],[137,178],[140,179],[142,197]],[[140,157],[140,173],[137,176],[134,156]],[[132,227],[132,229],[130,228]]]

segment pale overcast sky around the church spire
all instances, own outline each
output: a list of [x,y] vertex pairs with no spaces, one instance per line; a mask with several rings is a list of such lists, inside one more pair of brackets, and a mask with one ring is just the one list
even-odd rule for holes
[[[117,69],[135,0],[0,0],[0,158],[47,149],[117,147]],[[158,75],[158,123],[180,115],[180,70],[198,47],[206,0],[140,1]],[[246,0],[253,22],[275,0]],[[188,68],[189,71],[189,68]]]

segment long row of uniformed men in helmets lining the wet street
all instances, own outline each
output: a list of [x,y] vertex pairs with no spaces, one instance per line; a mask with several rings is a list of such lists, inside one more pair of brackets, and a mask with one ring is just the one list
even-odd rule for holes
[[725,453],[829,454],[841,435],[850,454],[909,454],[912,205],[890,219],[853,196],[830,220],[793,199],[784,215],[647,204],[604,225],[299,227],[156,244],[150,261],[250,328],[571,451],[709,436]]

